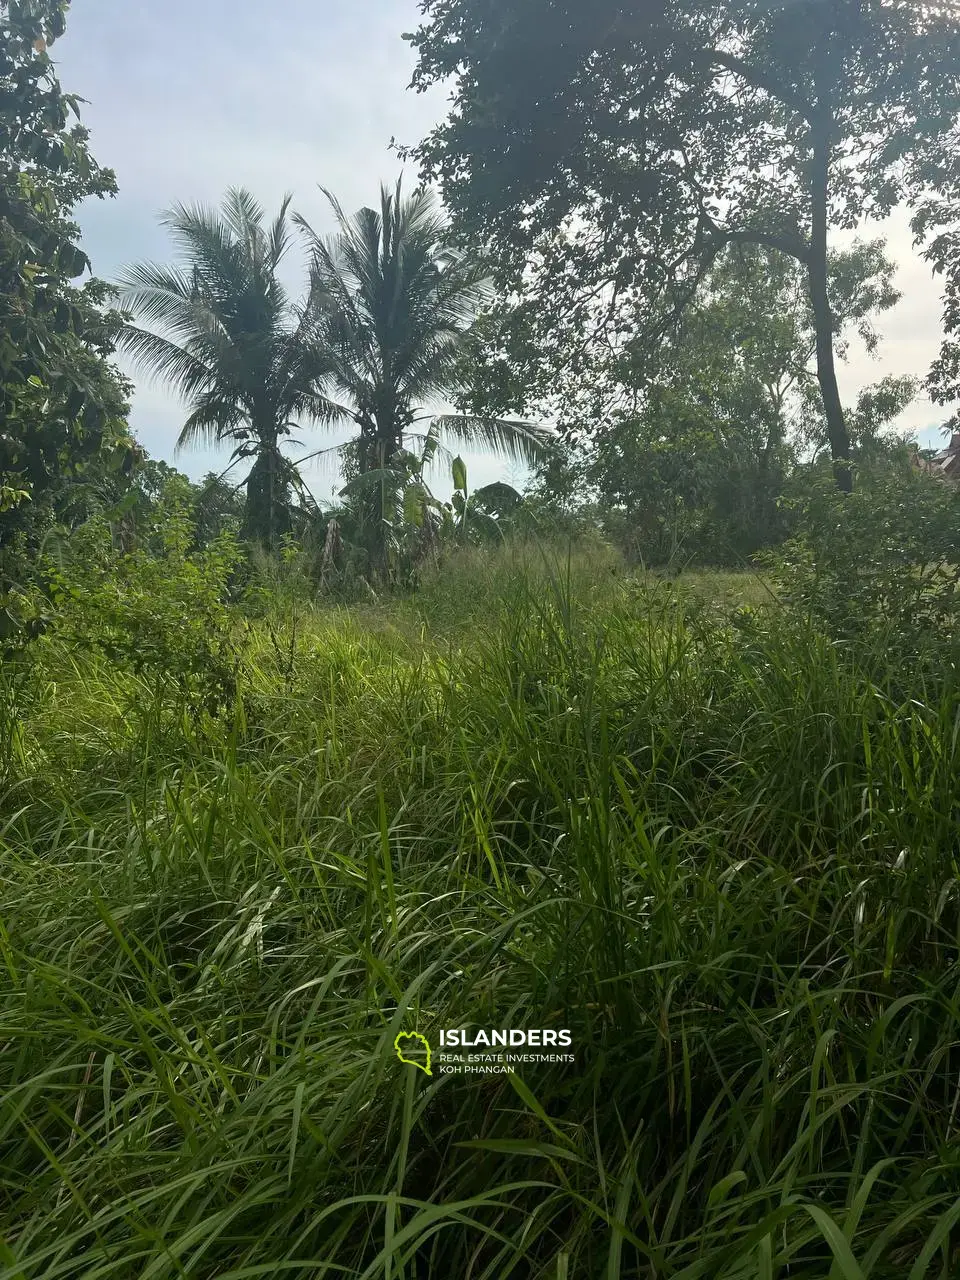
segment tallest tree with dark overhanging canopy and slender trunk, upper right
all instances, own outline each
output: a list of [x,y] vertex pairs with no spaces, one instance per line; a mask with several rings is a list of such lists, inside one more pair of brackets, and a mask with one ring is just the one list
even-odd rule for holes
[[[652,300],[695,292],[728,244],[794,257],[815,323],[837,483],[831,228],[914,202],[950,161],[960,15],[909,0],[422,0],[415,86],[453,108],[415,151],[532,303],[517,355],[582,378]],[[544,358],[547,353],[547,358]],[[553,358],[550,358],[550,356]],[[534,378],[522,383],[536,392]],[[516,394],[517,384],[511,390]]]

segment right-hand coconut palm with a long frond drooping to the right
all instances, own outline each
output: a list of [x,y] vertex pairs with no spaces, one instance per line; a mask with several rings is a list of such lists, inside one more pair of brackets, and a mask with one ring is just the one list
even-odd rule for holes
[[[323,189],[323,188],[321,188]],[[384,571],[387,526],[411,475],[411,451],[433,457],[440,436],[516,462],[540,456],[547,433],[524,422],[436,415],[431,401],[462,389],[465,353],[489,297],[485,268],[460,252],[434,196],[380,188],[380,209],[347,218],[324,189],[337,219],[330,239],[294,215],[312,253],[312,292],[329,360],[325,383],[337,413],[358,428],[351,457],[367,479],[374,554]],[[420,422],[431,420],[424,434]],[[356,481],[352,486],[356,492]]]

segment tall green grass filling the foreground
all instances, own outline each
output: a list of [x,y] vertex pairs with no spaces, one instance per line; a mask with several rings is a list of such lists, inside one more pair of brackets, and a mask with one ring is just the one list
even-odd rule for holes
[[273,631],[6,677],[0,1276],[960,1274],[951,673],[599,556]]

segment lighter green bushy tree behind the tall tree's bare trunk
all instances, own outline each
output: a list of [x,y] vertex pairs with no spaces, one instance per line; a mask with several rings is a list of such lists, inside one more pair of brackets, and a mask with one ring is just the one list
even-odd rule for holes
[[[876,349],[876,316],[893,306],[893,264],[874,241],[829,261],[837,356],[856,332]],[[654,563],[742,563],[788,530],[782,498],[828,445],[813,367],[815,326],[801,269],[776,250],[730,246],[663,343],[645,385],[643,343],[608,366],[603,429],[571,460],[580,500],[630,556]],[[909,401],[884,376],[847,408],[854,457]],[[553,498],[554,466],[535,492]]]

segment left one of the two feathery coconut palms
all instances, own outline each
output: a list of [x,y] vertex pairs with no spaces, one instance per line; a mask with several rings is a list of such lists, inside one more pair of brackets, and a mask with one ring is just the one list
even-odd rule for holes
[[175,205],[161,225],[183,264],[145,262],[120,279],[124,305],[143,325],[125,325],[120,347],[188,404],[178,449],[232,443],[232,463],[253,460],[244,534],[268,547],[289,531],[292,489],[302,490],[282,443],[301,420],[330,416],[314,296],[296,303],[278,279],[292,239],[289,202],[270,227],[242,188],[219,211]]

